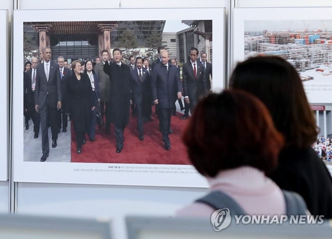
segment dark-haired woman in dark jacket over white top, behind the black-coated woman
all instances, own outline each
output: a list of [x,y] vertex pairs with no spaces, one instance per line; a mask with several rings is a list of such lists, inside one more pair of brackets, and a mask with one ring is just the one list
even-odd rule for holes
[[[100,90],[99,90],[99,83],[98,83],[98,76],[95,74],[93,70],[93,63],[92,60],[85,61],[84,64],[84,73],[86,73],[89,77],[92,92],[93,92],[93,100],[97,105],[100,102]],[[89,135],[89,139],[91,142],[95,141],[95,132],[96,132],[96,122],[97,122],[97,108],[91,110],[90,112],[90,123],[87,128],[87,133]]]

